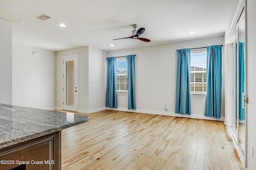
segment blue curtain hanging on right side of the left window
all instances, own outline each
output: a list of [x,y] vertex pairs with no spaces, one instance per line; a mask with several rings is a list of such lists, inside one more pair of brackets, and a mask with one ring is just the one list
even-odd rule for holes
[[135,102],[135,55],[126,55],[128,76],[128,109],[136,109]]

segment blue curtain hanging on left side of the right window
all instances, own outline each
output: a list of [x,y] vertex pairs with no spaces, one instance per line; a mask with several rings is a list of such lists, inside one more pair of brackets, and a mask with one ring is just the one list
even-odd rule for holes
[[177,50],[176,106],[175,113],[191,114],[190,98],[190,52]]

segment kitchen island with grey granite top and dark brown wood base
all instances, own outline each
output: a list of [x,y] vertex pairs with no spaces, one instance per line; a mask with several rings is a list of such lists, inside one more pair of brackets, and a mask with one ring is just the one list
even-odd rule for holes
[[60,170],[61,130],[87,121],[87,115],[0,104],[0,169]]

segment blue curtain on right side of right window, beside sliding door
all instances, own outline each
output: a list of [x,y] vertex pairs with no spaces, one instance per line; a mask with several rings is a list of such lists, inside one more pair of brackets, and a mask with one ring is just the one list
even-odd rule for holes
[[204,115],[220,118],[221,104],[221,45],[206,47],[206,104]]

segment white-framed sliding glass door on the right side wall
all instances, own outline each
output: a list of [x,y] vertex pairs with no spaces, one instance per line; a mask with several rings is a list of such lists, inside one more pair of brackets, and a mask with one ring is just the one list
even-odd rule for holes
[[247,59],[246,1],[241,0],[226,36],[225,115],[226,125],[242,164],[246,167]]

